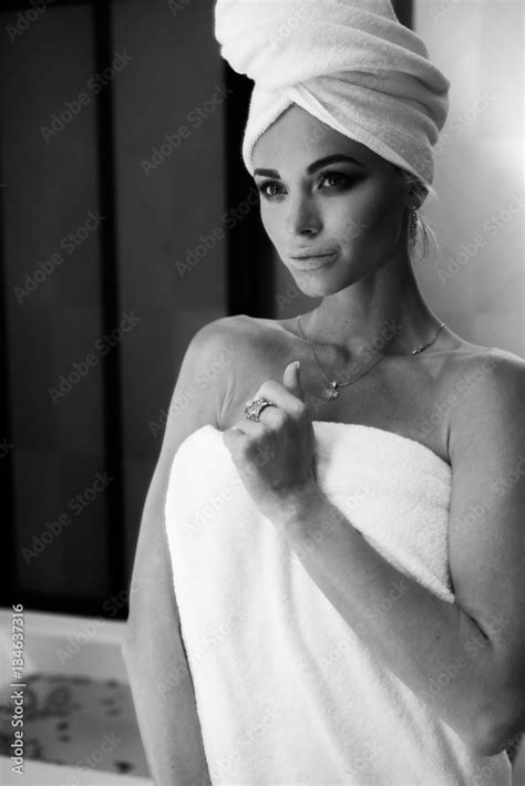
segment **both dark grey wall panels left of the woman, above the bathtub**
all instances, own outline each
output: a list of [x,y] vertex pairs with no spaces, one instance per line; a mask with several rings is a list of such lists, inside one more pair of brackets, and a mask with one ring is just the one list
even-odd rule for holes
[[[202,254],[202,236],[222,226],[225,209],[223,61],[210,4],[113,0],[107,65],[121,68],[95,90],[95,4],[25,6],[10,3],[0,14],[11,590],[28,608],[104,614],[119,575],[114,558],[123,555],[122,617],[184,351],[198,328],[226,313],[225,242]],[[101,128],[97,114],[110,90],[113,130]],[[63,122],[53,120],[62,113]],[[113,518],[102,352],[94,349],[103,335],[103,211],[84,226],[101,208],[102,137],[114,149],[104,166],[115,183],[117,318],[131,325],[109,354],[113,362],[119,353],[121,375],[123,505]],[[90,353],[97,362],[87,366]],[[74,384],[53,397],[50,389],[70,373]]]

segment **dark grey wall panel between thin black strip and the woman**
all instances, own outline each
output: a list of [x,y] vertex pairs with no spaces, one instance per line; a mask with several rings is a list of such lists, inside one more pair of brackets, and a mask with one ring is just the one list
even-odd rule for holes
[[226,314],[225,242],[199,237],[223,226],[225,96],[207,2],[117,0],[113,18],[133,56],[115,85],[121,304],[143,320],[121,350],[131,565],[184,351]]

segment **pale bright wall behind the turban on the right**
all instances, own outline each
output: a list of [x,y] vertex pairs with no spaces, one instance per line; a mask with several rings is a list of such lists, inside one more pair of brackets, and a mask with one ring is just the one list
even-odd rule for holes
[[418,266],[436,313],[467,341],[525,356],[522,0],[415,0],[414,29],[451,81],[424,210],[437,259]]

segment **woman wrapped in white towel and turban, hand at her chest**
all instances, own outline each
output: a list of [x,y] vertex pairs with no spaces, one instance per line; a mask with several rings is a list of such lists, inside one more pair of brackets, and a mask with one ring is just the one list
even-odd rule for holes
[[[409,254],[447,82],[385,1],[224,0],[216,21],[256,82],[265,228],[321,302],[216,320],[184,358],[125,648],[155,780],[508,785],[525,363],[444,325]],[[238,509],[197,519],[236,479]]]

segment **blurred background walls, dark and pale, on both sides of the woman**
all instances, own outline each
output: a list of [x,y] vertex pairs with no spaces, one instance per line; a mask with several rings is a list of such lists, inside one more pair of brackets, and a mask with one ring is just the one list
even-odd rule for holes
[[[394,7],[452,83],[418,279],[462,338],[524,358],[524,6]],[[213,3],[1,8],[1,606],[124,620],[191,338],[317,301],[260,225],[251,83],[219,56]]]

